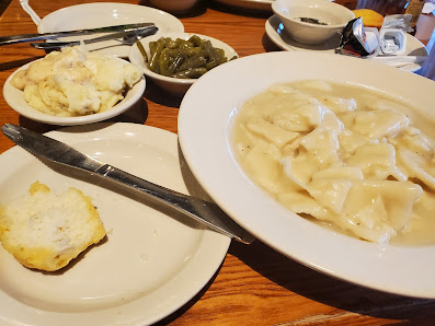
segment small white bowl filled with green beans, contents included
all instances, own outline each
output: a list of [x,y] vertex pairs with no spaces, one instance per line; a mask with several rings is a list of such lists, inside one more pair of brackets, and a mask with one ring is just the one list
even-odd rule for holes
[[184,94],[207,71],[237,59],[226,43],[201,34],[156,34],[137,42],[128,56],[147,79],[168,92]]

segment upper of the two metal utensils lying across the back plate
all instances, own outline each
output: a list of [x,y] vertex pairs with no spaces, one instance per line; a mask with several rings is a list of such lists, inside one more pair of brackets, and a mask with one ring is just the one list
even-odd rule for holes
[[9,35],[9,36],[0,36],[0,45],[24,43],[24,42],[35,42],[35,40],[43,40],[43,39],[53,39],[53,38],[59,38],[59,37],[90,35],[90,34],[96,34],[96,33],[134,32],[137,28],[144,28],[144,27],[150,27],[150,26],[154,26],[154,24],[153,23],[139,23],[139,24],[126,24],[126,25],[98,27],[98,28],[90,28],[90,30],[77,30],[77,31],[42,33],[42,34]]

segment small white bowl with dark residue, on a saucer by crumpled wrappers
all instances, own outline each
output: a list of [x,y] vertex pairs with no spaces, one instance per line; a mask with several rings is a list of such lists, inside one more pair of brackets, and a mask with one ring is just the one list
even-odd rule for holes
[[[302,44],[321,44],[341,33],[355,18],[352,10],[328,0],[276,0],[272,10],[290,37]],[[328,25],[301,22],[300,18],[316,19]]]

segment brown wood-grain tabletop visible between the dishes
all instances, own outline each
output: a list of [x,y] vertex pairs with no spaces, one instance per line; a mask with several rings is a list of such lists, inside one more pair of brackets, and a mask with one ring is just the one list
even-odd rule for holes
[[[32,8],[39,16],[81,2],[83,1],[31,0]],[[134,0],[117,2],[137,4]],[[341,2],[352,7],[355,1]],[[140,1],[138,4],[148,3]],[[0,13],[1,35],[36,33],[34,23],[22,10],[19,0],[1,0]],[[198,8],[180,19],[186,32],[221,39],[244,57],[279,50],[264,32],[270,15],[271,13],[247,12],[203,1]],[[26,44],[0,47],[0,88],[16,68],[42,56],[42,50],[33,49]],[[170,96],[148,83],[145,100],[148,104],[145,124],[176,132],[181,98]],[[1,97],[0,125],[5,123],[20,124],[41,132],[58,128],[20,117]],[[12,147],[13,143],[1,133],[0,152]],[[403,321],[434,324],[435,301],[381,293],[333,279],[256,241],[249,246],[232,243],[221,268],[207,287],[159,324],[378,325]]]

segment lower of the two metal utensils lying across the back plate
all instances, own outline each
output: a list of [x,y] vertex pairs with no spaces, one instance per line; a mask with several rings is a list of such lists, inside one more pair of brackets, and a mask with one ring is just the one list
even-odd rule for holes
[[[142,31],[135,31],[135,32],[119,32],[119,33],[112,33],[90,39],[83,39],[82,42],[84,44],[93,44],[102,40],[107,40],[107,39],[117,39],[119,40],[121,44],[131,46],[136,42],[138,42],[140,38],[150,36],[156,34],[159,31],[158,27],[151,26]],[[119,38],[122,37],[122,38]],[[31,46],[37,49],[45,49],[45,50],[53,50],[53,49],[58,49],[62,48],[66,46],[76,46],[80,45],[80,40],[73,40],[73,42],[41,42],[41,43],[31,43]]]

